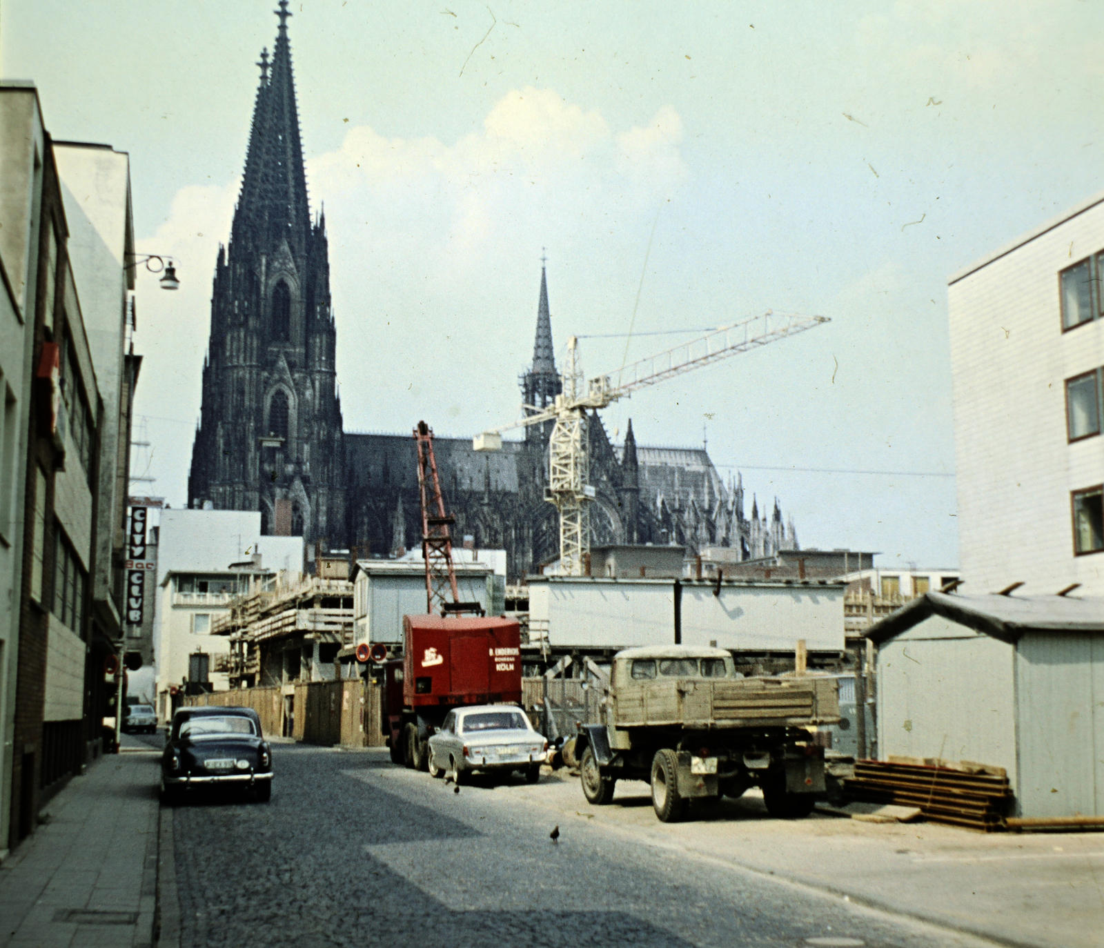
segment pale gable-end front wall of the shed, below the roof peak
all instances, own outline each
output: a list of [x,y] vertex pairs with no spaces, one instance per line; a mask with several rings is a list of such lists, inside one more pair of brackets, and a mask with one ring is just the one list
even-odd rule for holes
[[973,760],[1016,789],[1013,649],[930,616],[878,651],[878,754]]

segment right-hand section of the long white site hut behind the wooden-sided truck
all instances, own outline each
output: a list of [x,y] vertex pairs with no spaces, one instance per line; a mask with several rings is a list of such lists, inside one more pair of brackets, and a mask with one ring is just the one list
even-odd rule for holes
[[826,586],[682,586],[682,643],[745,651],[843,651],[843,589]]

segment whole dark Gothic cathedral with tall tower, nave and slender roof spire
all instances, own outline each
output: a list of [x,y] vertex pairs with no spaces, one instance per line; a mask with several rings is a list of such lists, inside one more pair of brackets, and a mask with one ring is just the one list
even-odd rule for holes
[[[421,543],[417,452],[410,433],[344,430],[326,219],[311,216],[307,196],[287,6],[272,58],[265,51],[257,64],[242,190],[215,262],[189,503],[259,510],[263,533],[301,535],[309,548],[390,555]],[[535,408],[561,391],[543,266],[533,361],[519,383]],[[493,454],[475,452],[470,438],[434,441],[456,542],[506,550],[509,582],[559,555],[544,500],[550,429],[532,425]],[[797,548],[777,501],[761,514],[753,500],[745,516],[741,480],[725,483],[704,447],[637,445],[631,422],[615,445],[597,412],[587,439],[592,544],[678,544],[688,555],[730,546],[740,560]]]

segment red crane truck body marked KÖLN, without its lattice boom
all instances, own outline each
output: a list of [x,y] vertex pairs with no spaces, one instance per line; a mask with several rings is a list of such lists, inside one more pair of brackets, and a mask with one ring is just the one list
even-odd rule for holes
[[395,764],[429,765],[429,736],[448,712],[521,704],[521,630],[516,619],[403,616],[403,653],[384,662],[381,723]]

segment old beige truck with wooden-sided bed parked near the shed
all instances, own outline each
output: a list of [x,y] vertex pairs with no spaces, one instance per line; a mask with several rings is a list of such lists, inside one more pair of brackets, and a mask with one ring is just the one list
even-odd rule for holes
[[584,796],[604,806],[645,780],[662,822],[753,786],[773,817],[808,816],[827,789],[818,727],[840,720],[834,678],[744,678],[731,652],[688,646],[617,652],[601,716],[575,739]]

